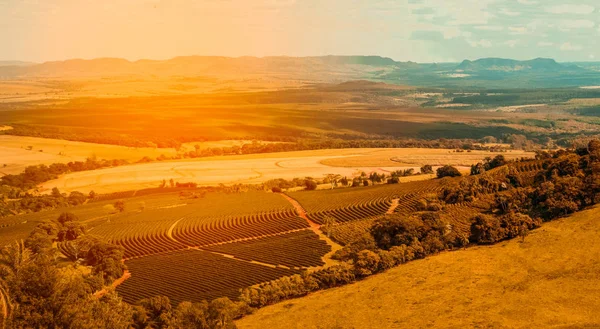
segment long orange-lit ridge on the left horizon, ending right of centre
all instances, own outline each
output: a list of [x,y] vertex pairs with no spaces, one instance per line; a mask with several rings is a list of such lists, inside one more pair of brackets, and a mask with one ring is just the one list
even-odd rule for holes
[[[270,78],[310,78],[316,75],[327,79],[327,73],[360,78],[372,70],[397,64],[379,56],[323,57],[220,57],[182,56],[168,60],[128,61],[122,58],[70,59],[29,66],[0,66],[0,78],[25,77],[165,77],[165,76],[233,76],[270,75]],[[339,77],[338,77],[339,78]],[[314,77],[313,77],[314,79]]]

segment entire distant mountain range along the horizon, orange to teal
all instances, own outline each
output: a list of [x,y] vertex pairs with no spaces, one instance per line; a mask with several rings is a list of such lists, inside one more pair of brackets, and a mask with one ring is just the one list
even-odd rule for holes
[[210,77],[315,82],[373,80],[423,87],[574,87],[600,85],[600,65],[482,58],[462,63],[397,62],[380,56],[217,57],[169,60],[73,59],[33,64],[0,62],[0,79],[98,77]]

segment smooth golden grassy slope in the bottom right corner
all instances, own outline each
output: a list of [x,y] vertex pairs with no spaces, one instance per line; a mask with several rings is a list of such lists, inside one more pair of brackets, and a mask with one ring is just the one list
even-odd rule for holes
[[239,328],[596,328],[600,208],[276,304]]

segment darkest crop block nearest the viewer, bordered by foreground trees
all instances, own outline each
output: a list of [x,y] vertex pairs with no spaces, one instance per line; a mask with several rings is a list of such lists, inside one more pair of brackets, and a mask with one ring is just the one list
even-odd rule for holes
[[198,250],[177,251],[127,262],[131,278],[117,288],[128,303],[156,295],[176,305],[227,296],[239,290],[300,271],[271,268]]

